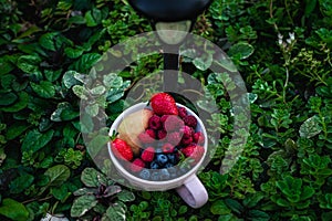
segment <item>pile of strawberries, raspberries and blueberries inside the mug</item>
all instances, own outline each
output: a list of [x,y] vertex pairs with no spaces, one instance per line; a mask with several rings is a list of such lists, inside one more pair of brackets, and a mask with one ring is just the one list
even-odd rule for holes
[[126,116],[111,141],[114,156],[132,175],[168,180],[195,166],[204,155],[205,137],[197,119],[167,93],[152,96],[149,106]]

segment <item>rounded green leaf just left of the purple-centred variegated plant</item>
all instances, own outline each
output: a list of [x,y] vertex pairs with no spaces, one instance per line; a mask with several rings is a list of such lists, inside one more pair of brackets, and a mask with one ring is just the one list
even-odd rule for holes
[[71,171],[64,165],[56,165],[49,168],[44,175],[50,178],[49,187],[59,187],[70,178]]

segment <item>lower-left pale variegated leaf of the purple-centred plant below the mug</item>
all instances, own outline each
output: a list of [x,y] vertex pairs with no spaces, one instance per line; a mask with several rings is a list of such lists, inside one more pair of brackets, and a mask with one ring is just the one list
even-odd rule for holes
[[94,196],[81,196],[76,198],[71,208],[71,217],[79,218],[85,214],[89,210],[97,204]]

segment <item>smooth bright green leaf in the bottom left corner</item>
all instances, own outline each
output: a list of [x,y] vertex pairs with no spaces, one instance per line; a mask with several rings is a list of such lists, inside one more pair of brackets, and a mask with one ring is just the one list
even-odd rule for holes
[[0,214],[14,221],[27,221],[29,217],[29,211],[22,203],[7,198],[2,200],[2,204],[0,207]]

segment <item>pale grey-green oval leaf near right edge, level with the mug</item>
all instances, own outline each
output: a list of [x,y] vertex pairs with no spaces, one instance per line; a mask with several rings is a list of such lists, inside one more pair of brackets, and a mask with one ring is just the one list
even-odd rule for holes
[[322,131],[320,125],[320,117],[314,115],[308,118],[301,126],[300,126],[300,136],[304,138],[311,138]]

